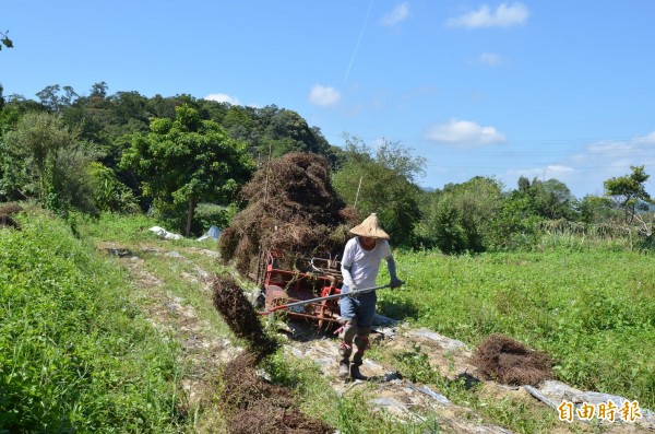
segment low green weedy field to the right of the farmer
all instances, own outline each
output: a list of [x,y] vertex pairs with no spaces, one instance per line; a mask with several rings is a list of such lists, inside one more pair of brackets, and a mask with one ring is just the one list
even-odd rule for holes
[[655,256],[616,248],[451,257],[397,253],[407,284],[381,313],[475,347],[505,333],[555,361],[559,379],[655,408]]

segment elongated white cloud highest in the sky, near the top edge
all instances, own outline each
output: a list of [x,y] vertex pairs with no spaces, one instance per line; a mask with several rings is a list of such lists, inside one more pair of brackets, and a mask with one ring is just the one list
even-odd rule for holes
[[529,11],[522,3],[501,3],[496,10],[491,10],[487,4],[483,4],[477,11],[450,19],[446,25],[466,28],[511,27],[525,23],[528,16]]

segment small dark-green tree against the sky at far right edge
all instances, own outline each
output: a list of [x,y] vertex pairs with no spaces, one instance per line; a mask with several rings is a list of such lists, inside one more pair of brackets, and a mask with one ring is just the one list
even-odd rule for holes
[[632,223],[634,219],[645,224],[639,212],[646,211],[648,203],[655,203],[644,186],[651,176],[645,173],[644,166],[630,166],[630,175],[614,177],[603,183],[605,196],[611,198],[615,204],[623,210],[627,224]]

